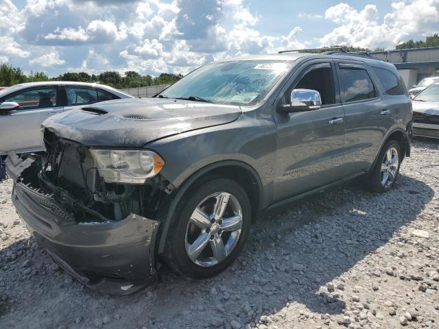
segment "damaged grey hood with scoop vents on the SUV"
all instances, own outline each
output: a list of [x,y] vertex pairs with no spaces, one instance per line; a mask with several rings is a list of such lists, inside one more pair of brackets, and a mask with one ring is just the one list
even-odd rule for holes
[[49,117],[43,127],[88,146],[142,147],[157,139],[224,125],[241,116],[239,106],[175,99],[118,99]]

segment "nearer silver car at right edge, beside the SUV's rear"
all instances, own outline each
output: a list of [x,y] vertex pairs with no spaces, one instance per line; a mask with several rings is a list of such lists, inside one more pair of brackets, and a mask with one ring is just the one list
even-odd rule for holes
[[425,88],[412,103],[414,136],[439,138],[439,83]]

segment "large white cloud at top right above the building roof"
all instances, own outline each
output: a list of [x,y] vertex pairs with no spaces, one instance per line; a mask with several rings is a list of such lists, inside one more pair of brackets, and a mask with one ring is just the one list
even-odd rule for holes
[[377,5],[357,11],[339,3],[325,12],[325,17],[340,25],[320,39],[321,45],[392,48],[401,40],[420,38],[438,32],[439,0],[394,2],[392,12],[379,21]]

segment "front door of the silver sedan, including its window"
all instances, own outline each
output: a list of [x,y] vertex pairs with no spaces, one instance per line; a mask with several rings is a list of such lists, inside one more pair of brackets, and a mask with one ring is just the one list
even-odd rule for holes
[[19,104],[17,110],[0,113],[0,151],[43,149],[41,123],[63,110],[58,86],[38,86],[5,95],[3,101]]

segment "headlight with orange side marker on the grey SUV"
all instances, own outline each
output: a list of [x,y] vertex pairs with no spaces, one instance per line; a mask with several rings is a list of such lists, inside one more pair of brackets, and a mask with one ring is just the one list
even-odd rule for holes
[[91,149],[99,175],[107,183],[143,184],[157,175],[165,160],[153,151]]

